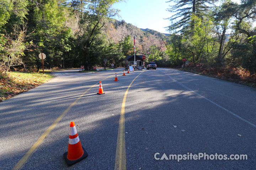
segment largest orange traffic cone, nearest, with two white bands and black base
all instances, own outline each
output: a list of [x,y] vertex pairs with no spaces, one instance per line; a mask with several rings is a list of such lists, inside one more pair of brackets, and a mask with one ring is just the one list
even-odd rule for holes
[[63,154],[66,163],[70,166],[86,158],[88,153],[82,147],[74,121],[69,125],[69,146],[68,152]]

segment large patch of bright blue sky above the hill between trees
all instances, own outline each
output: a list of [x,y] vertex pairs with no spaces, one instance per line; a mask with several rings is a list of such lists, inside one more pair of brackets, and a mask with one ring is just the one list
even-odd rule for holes
[[120,18],[138,28],[149,28],[161,33],[168,33],[166,28],[170,21],[171,13],[166,9],[171,4],[167,0],[126,0],[113,5],[113,8],[121,10]]

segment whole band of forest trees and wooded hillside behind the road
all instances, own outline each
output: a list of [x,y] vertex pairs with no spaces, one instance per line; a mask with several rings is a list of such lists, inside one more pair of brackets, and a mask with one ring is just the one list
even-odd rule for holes
[[[170,34],[112,19],[119,0],[0,0],[1,72],[46,68],[117,67],[136,53],[158,66],[181,66],[182,58],[204,67],[256,72],[256,0],[178,0],[170,11]],[[218,4],[218,5],[216,5]],[[172,13],[171,13],[172,12]],[[153,21],[154,22],[154,21]]]

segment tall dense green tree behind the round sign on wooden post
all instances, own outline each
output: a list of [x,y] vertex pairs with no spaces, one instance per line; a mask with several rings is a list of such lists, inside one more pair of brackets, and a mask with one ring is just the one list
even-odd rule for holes
[[[71,28],[66,27],[66,18],[70,15],[67,7],[62,1],[44,0],[33,1],[29,5],[28,12],[30,30],[33,32],[33,39],[39,46],[40,51],[47,55],[45,66],[64,67],[65,58],[68,56],[67,51],[71,49],[68,44],[72,35]],[[34,53],[34,57],[28,57],[37,64],[37,68],[41,66],[38,53]]]

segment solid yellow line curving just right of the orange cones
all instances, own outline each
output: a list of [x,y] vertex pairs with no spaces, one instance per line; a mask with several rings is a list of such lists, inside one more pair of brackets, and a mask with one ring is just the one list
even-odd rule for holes
[[[141,72],[140,74],[142,74],[143,72]],[[137,75],[137,77],[139,77],[139,75]],[[130,86],[133,84],[134,80],[137,77],[135,77],[133,79],[132,83],[130,83],[130,85],[128,86],[128,88],[124,94],[124,98],[123,98],[121,114],[120,114],[120,119],[119,119],[118,135],[117,135],[115,170],[126,170],[126,148],[125,148],[125,130],[124,130],[124,128],[125,128],[125,119],[124,119],[125,102],[126,102],[126,97],[127,97],[128,91],[130,89]]]

